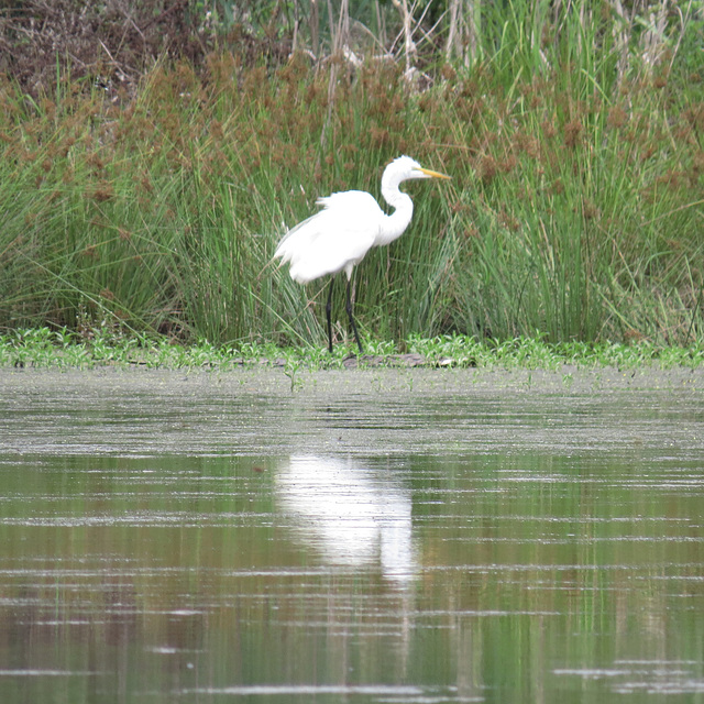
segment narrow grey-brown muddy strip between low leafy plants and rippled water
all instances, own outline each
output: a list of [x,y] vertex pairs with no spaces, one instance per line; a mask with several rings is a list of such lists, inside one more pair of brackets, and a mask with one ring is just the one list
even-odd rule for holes
[[3,395],[32,389],[94,389],[103,394],[133,387],[140,391],[176,391],[179,387],[258,389],[263,395],[339,394],[360,395],[395,391],[403,394],[494,392],[590,394],[626,389],[704,392],[704,367],[583,369],[562,365],[558,370],[428,369],[376,366],[372,369],[306,370],[252,365],[222,370],[161,370],[103,366],[76,369],[0,369]]

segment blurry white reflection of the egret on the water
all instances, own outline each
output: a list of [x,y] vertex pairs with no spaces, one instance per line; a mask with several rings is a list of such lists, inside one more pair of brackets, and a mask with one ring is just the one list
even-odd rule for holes
[[279,466],[276,491],[297,536],[326,562],[378,561],[397,584],[415,578],[410,492],[397,482],[350,460],[302,455]]

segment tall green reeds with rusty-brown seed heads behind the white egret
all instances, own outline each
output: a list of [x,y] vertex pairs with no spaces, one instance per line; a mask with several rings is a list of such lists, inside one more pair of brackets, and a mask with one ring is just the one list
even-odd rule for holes
[[34,97],[1,81],[0,327],[321,345],[326,282],[293,284],[276,243],[408,153],[453,180],[408,186],[408,233],[360,266],[367,337],[701,341],[701,8],[649,35],[543,4],[484,15],[472,56],[413,78],[403,54],[216,51],[133,95],[65,68]]

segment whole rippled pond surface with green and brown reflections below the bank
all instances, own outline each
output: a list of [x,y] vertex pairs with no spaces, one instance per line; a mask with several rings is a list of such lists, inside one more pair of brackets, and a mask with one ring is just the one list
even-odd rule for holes
[[703,388],[0,372],[2,702],[704,701]]

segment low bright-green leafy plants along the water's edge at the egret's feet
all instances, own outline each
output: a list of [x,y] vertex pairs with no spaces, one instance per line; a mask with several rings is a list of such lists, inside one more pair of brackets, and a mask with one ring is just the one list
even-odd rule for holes
[[[634,369],[656,365],[660,369],[691,367],[704,364],[704,345],[657,346],[649,342],[552,343],[536,338],[480,340],[466,336],[432,339],[411,337],[403,345],[365,340],[367,355],[359,365],[396,364],[400,348],[424,358],[424,364],[437,367],[559,370],[613,366]],[[216,346],[205,340],[197,344],[170,343],[164,337],[123,336],[109,328],[84,331],[67,329],[22,329],[0,336],[0,367],[94,369],[99,366],[144,369],[206,369],[229,371],[242,366],[275,365],[284,369],[294,388],[299,370],[342,369],[354,354],[353,344],[340,345],[330,355],[324,348],[288,346],[273,343],[244,343]],[[381,358],[381,359],[380,359]]]

